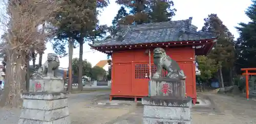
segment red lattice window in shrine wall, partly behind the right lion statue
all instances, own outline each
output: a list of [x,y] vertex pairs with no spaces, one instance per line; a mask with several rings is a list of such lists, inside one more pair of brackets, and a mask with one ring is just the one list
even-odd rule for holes
[[[156,72],[157,67],[155,64],[151,65],[152,76]],[[167,71],[162,70],[162,77],[167,75]],[[135,65],[135,79],[149,79],[150,78],[150,65],[148,64],[136,64]]]

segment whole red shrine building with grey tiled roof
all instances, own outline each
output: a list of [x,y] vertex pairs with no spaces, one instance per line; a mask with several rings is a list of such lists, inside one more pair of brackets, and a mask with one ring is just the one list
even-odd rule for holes
[[195,57],[209,53],[216,37],[211,33],[197,32],[191,20],[190,17],[186,20],[126,26],[115,38],[90,44],[97,51],[112,55],[110,100],[113,97],[134,97],[137,101],[137,98],[148,96],[148,82],[156,72],[153,49],[162,47],[184,70],[187,77],[186,95],[193,98],[195,104]]

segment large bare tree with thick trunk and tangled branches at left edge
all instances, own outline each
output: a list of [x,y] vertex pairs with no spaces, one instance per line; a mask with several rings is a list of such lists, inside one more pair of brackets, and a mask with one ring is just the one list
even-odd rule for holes
[[[1,106],[19,107],[25,89],[26,70],[34,51],[44,51],[48,33],[41,25],[51,20],[61,0],[0,0],[1,39],[6,50],[6,85]],[[3,7],[2,7],[3,6]],[[51,34],[51,33],[49,33]]]

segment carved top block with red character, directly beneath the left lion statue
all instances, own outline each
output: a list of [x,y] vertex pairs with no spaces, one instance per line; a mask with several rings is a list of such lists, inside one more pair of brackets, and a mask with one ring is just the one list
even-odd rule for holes
[[62,92],[63,90],[64,80],[62,78],[44,77],[30,80],[30,92]]

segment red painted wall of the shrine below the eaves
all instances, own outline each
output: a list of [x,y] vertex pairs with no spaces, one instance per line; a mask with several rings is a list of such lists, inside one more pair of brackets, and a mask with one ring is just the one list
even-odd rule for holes
[[[149,57],[146,49],[116,52],[112,55],[112,90],[113,96],[147,96],[148,81],[143,78],[149,73]],[[184,70],[187,96],[196,98],[195,49],[192,47],[165,48],[166,54],[176,60]],[[153,63],[153,49],[151,49]],[[137,67],[143,68],[138,71]],[[154,69],[153,69],[154,70]],[[152,72],[154,74],[154,71]]]

